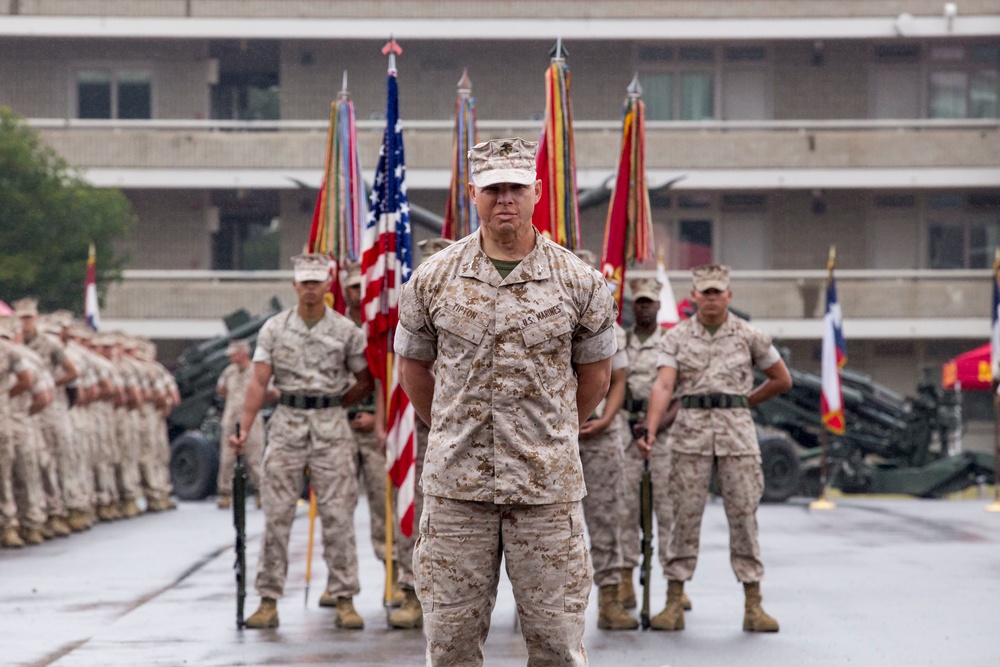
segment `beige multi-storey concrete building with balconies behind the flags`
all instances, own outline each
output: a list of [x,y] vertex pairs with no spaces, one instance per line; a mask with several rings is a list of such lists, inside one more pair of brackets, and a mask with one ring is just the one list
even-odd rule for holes
[[[735,305],[815,369],[836,244],[852,367],[912,393],[921,367],[986,339],[995,0],[2,0],[0,103],[140,220],[106,320],[203,338],[290,298],[345,70],[371,179],[390,34],[415,204],[444,211],[463,69],[481,138],[533,138],[561,37],[582,188],[613,172],[639,74],[648,180],[675,181],[652,200],[678,297],[683,269],[730,264]],[[606,211],[583,211],[594,251]]]

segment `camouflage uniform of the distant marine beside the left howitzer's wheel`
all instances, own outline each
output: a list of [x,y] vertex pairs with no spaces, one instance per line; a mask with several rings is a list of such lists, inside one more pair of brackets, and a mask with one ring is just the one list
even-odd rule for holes
[[[249,349],[249,348],[248,348]],[[229,442],[229,436],[236,433],[236,425],[243,416],[243,403],[246,401],[247,389],[250,387],[250,380],[253,378],[253,363],[247,364],[246,368],[240,368],[238,364],[226,366],[219,381],[216,383],[216,391],[225,392],[226,405],[222,409],[222,440]],[[245,450],[247,462],[247,473],[250,484],[255,489],[260,489],[260,471],[264,464],[264,417],[257,414],[253,421],[253,427],[247,434]],[[219,478],[218,487],[220,496],[233,495],[233,465],[236,463],[236,453],[232,447],[222,447],[219,455]]]

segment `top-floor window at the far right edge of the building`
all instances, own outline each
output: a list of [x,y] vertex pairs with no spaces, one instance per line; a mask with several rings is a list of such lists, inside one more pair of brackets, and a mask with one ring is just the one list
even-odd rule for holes
[[938,46],[931,50],[931,118],[1000,116],[1000,45]]

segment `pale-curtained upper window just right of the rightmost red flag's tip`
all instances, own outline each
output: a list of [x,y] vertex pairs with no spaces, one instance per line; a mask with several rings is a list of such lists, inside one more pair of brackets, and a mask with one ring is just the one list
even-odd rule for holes
[[649,120],[714,120],[715,51],[641,46],[638,61]]

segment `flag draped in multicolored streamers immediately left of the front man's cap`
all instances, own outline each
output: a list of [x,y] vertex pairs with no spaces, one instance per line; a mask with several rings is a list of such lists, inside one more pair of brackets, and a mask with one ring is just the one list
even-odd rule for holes
[[476,131],[476,98],[472,96],[472,81],[468,70],[462,72],[458,82],[458,99],[455,101],[455,136],[451,151],[451,189],[444,209],[444,226],[441,236],[452,241],[468,236],[479,229],[479,214],[472,205],[468,184],[469,149],[479,143]]

